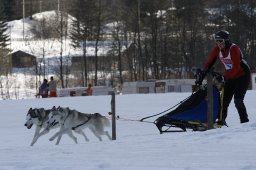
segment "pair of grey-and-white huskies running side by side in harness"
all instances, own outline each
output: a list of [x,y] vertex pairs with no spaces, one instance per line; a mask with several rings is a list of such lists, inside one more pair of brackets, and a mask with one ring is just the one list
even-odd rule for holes
[[99,113],[85,114],[77,110],[71,110],[68,107],[55,107],[52,109],[30,108],[26,116],[25,126],[30,129],[36,126],[33,140],[30,146],[33,146],[39,137],[47,134],[51,129],[59,128],[49,140],[57,138],[56,145],[59,144],[63,134],[67,134],[77,143],[77,138],[73,132],[82,135],[85,141],[89,141],[83,132],[83,129],[89,128],[92,133],[102,141],[102,135],[106,135],[110,140],[111,136],[104,128],[110,126],[110,121]]

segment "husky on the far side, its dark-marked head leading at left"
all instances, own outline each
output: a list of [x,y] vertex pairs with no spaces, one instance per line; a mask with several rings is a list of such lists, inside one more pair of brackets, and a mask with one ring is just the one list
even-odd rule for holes
[[[59,124],[49,126],[49,124],[47,123],[49,119],[49,113],[54,109],[55,107],[49,110],[45,110],[44,108],[29,109],[26,116],[25,126],[28,129],[30,129],[34,124],[36,126],[35,134],[30,146],[33,146],[40,136],[47,134],[51,129],[60,127]],[[41,129],[42,131],[40,132]],[[89,139],[83,132],[81,132],[80,134],[82,134],[85,137],[85,140],[89,141]],[[77,143],[76,137],[72,134],[72,132],[69,132],[68,135]]]

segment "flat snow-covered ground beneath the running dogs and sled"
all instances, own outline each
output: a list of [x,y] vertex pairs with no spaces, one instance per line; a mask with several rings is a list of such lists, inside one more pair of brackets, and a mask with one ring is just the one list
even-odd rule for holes
[[[120,118],[138,120],[177,104],[189,93],[116,96]],[[159,134],[154,124],[117,120],[117,140],[100,142],[89,130],[90,141],[78,144],[63,136],[60,145],[48,139],[29,146],[34,127],[28,130],[25,116],[30,107],[65,106],[81,112],[111,110],[111,96],[67,97],[0,101],[0,170],[252,170],[256,169],[256,91],[248,91],[245,103],[250,122],[240,124],[232,103],[229,127],[205,132]],[[150,121],[154,121],[155,118]],[[110,129],[109,129],[110,130]],[[110,130],[111,133],[111,130]]]

